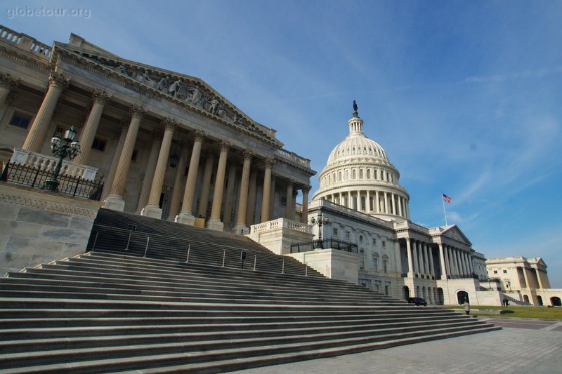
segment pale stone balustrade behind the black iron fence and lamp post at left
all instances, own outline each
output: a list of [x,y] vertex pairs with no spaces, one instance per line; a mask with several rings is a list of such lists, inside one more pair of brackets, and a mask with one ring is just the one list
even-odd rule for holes
[[[33,168],[39,170],[53,171],[58,162],[58,158],[15,147],[10,162],[32,166]],[[63,161],[63,167],[60,169],[61,175],[68,175],[74,178],[79,177],[84,180],[95,180],[97,173],[98,168],[93,168],[92,166],[82,165],[81,163],[75,163],[72,161]]]

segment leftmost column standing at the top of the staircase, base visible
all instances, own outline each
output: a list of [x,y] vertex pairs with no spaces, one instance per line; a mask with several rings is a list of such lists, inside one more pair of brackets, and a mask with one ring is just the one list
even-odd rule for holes
[[121,194],[129,176],[131,156],[133,149],[135,149],[136,136],[138,135],[138,128],[141,127],[141,119],[144,112],[144,109],[141,107],[134,105],[131,107],[131,123],[129,123],[129,130],[127,131],[121,156],[119,156],[117,169],[115,170],[116,178],[113,180],[109,196],[103,202],[104,208],[113,209],[114,211],[123,211],[125,208],[125,201]]

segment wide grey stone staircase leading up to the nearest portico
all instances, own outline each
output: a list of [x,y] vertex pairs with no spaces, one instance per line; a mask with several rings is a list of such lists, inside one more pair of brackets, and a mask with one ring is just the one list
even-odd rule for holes
[[243,236],[110,211],[91,236],[89,253],[0,280],[0,373],[222,373],[497,329]]

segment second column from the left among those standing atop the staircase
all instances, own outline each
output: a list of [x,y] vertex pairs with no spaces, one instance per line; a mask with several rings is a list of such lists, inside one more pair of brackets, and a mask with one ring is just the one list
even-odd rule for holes
[[146,204],[141,215],[152,218],[162,218],[162,208],[159,206],[160,195],[162,195],[162,186],[164,185],[164,177],[166,176],[166,168],[168,167],[168,157],[170,155],[171,139],[174,137],[174,130],[178,127],[178,123],[173,119],[166,118],[164,124],[164,138],[162,138],[162,146],[158,154],[154,180],[150,187],[150,196],[148,196],[148,204]]

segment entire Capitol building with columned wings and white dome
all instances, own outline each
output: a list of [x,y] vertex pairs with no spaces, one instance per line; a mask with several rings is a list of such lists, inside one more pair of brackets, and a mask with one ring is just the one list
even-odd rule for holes
[[203,79],[0,26],[0,272],[84,253],[107,208],[247,235],[401,300],[560,305],[540,258],[490,262],[457,225],[414,223],[365,120],[353,102],[311,192],[311,161]]

